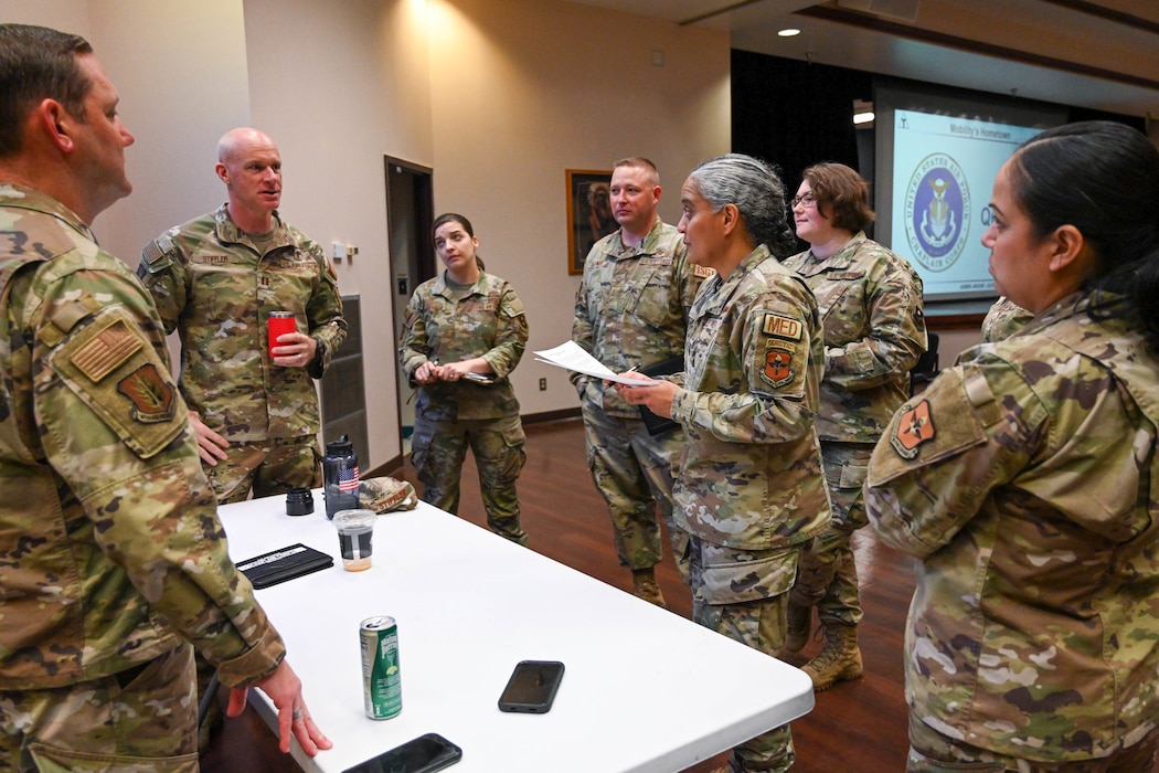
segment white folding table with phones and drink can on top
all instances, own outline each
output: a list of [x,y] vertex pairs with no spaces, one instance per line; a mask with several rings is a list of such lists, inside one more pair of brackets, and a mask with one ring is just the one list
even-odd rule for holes
[[[341,773],[425,732],[462,748],[457,773],[671,773],[807,714],[799,669],[420,503],[384,513],[371,569],[342,569],[321,491],[309,516],[285,497],[225,505],[235,562],[301,542],[335,566],[257,591],[306,703],[334,749],[294,759]],[[398,621],[402,713],[363,710],[359,622]],[[548,714],[496,701],[522,659],[562,661]],[[254,691],[271,728],[277,714]],[[257,699],[256,695],[262,695]]]

